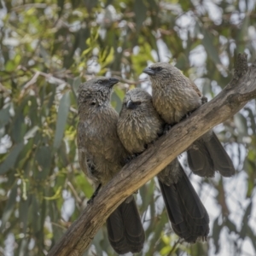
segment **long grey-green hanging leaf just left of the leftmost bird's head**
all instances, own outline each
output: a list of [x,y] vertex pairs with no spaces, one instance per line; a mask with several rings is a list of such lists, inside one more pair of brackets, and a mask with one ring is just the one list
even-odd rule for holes
[[67,123],[69,106],[70,106],[70,97],[69,97],[69,91],[68,91],[62,96],[59,109],[58,109],[54,148],[59,148],[61,146],[61,140],[64,135],[65,125]]

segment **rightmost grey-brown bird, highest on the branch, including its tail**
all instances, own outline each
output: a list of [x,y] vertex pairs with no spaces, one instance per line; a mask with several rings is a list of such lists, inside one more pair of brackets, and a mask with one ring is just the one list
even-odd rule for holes
[[[177,124],[205,100],[196,85],[169,63],[155,63],[143,73],[149,75],[154,108],[166,124]],[[216,171],[224,177],[235,174],[230,156],[213,131],[196,140],[187,152],[190,169],[201,177],[213,177]]]

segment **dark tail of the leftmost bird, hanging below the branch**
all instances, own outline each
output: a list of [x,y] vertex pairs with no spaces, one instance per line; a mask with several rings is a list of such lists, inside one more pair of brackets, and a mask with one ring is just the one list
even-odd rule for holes
[[108,240],[119,254],[139,253],[145,234],[136,202],[124,201],[107,219]]

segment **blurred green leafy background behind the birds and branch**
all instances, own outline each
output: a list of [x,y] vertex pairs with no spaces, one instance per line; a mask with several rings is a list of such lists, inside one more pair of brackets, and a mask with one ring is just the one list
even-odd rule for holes
[[[93,189],[76,150],[76,90],[115,76],[150,91],[143,68],[168,61],[211,100],[232,78],[239,52],[256,59],[254,0],[0,1],[0,255],[46,255],[79,217]],[[211,218],[207,243],[179,240],[158,184],[137,195],[146,242],[137,255],[256,254],[255,100],[215,127],[236,175],[191,175]],[[116,255],[105,226],[84,255]]]

